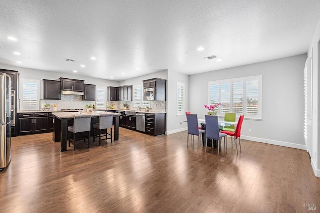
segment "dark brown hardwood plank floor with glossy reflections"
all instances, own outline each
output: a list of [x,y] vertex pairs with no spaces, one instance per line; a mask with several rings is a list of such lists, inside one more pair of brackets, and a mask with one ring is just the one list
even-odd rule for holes
[[[0,172],[3,213],[319,212],[320,178],[304,150],[228,139],[216,149],[186,148],[186,132],[148,136],[119,129],[60,153],[51,133],[12,138]],[[91,138],[92,143],[92,138]],[[315,205],[316,211],[307,206]]]

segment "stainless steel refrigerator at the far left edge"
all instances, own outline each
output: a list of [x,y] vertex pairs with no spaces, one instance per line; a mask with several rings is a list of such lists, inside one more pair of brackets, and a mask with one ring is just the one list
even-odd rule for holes
[[0,73],[0,171],[11,160],[11,79]]

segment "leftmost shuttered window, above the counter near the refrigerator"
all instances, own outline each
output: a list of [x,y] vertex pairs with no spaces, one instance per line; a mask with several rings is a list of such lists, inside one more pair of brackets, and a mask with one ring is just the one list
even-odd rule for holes
[[20,110],[39,110],[40,81],[21,78]]

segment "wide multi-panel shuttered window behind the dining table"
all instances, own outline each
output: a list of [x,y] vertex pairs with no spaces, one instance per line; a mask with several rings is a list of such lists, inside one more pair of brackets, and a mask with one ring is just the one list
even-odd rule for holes
[[223,116],[225,112],[245,115],[245,118],[261,119],[262,76],[234,78],[209,82],[209,103],[222,103],[214,111]]

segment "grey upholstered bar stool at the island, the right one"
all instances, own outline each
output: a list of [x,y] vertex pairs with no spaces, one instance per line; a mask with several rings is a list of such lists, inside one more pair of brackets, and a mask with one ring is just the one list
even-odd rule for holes
[[[113,121],[113,117],[112,114],[107,114],[107,113],[103,113],[100,114],[99,116],[99,123],[93,124],[93,142],[94,139],[96,137],[99,137],[99,145],[101,145],[101,136],[105,137],[105,141],[107,141],[107,139],[111,139],[111,143],[112,143],[112,121]],[[108,128],[111,129],[110,133],[108,133]],[[98,129],[99,130],[99,134],[95,134],[94,129]],[[105,129],[105,134],[101,134],[101,130]],[[109,138],[107,136],[110,136]]]

